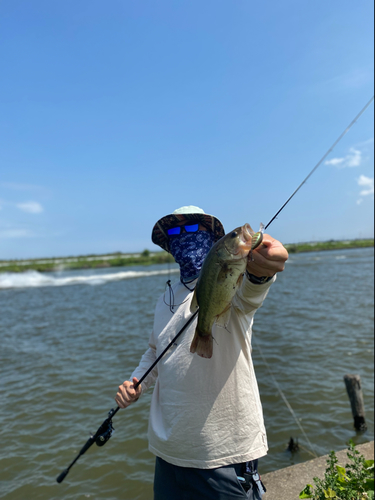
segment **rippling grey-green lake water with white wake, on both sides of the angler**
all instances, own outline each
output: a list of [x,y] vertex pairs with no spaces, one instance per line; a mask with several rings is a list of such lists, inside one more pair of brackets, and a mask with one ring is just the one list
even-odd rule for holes
[[[374,250],[291,255],[254,323],[270,450],[261,472],[374,438]],[[147,348],[168,266],[0,274],[0,498],[152,500],[151,393],[114,418],[65,481],[56,477],[115,407]],[[272,375],[270,374],[270,370]],[[343,376],[358,373],[368,431],[357,433]],[[273,377],[275,381],[273,380]],[[286,450],[290,437],[301,449]]]

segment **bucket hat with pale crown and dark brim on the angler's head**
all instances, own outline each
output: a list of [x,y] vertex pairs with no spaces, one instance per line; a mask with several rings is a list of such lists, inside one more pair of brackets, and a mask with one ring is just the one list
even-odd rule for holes
[[169,215],[165,215],[157,221],[153,230],[151,239],[155,245],[169,252],[168,229],[183,221],[199,221],[208,231],[215,236],[215,242],[225,235],[223,224],[213,215],[206,214],[201,208],[189,205],[177,208]]

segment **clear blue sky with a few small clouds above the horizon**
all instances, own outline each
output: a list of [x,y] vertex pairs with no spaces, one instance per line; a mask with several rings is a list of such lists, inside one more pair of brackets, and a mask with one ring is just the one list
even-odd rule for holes
[[[373,2],[3,0],[0,259],[267,223],[373,94]],[[269,233],[373,235],[373,105]]]

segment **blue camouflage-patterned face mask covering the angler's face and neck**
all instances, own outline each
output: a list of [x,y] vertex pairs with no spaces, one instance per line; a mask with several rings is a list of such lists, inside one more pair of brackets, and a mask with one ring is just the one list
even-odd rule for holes
[[197,278],[206,255],[214,244],[214,234],[209,231],[182,233],[171,238],[169,249],[180,266],[181,280]]

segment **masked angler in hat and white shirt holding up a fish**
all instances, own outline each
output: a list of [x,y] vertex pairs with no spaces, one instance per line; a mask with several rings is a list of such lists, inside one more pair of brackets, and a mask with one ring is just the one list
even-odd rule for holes
[[149,349],[116,402],[126,408],[153,383],[149,449],[156,455],[154,500],[260,500],[258,458],[267,453],[262,407],[251,359],[252,323],[288,252],[269,235],[252,252],[226,328],[214,325],[213,355],[191,354],[196,320],[146,377],[134,384],[191,317],[203,261],[224,236],[221,222],[198,207],[161,218],[152,240],[180,265],[180,281],[159,299]]

